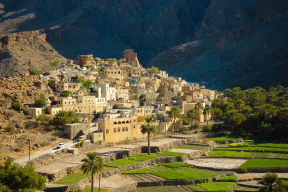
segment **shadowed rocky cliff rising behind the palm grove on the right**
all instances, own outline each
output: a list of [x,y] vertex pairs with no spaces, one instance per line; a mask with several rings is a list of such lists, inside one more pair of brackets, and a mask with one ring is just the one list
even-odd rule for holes
[[288,85],[287,18],[283,0],[212,0],[193,40],[150,65],[214,88]]

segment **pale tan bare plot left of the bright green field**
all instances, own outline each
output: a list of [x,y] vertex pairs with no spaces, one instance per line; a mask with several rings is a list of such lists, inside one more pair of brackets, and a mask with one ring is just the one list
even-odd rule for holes
[[185,163],[211,168],[237,168],[247,159],[235,158],[197,158],[185,160]]

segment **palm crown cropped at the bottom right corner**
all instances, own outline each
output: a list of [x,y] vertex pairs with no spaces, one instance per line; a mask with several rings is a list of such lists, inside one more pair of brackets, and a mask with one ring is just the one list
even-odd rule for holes
[[261,192],[287,191],[287,183],[282,179],[278,179],[275,173],[267,172],[258,183],[263,185],[259,189]]

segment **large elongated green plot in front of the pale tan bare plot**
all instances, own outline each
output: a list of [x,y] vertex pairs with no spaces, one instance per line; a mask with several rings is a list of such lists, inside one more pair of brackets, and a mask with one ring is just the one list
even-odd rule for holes
[[207,170],[207,169],[198,169],[198,168],[181,168],[173,170],[160,170],[152,172],[151,174],[160,176],[165,179],[200,179],[200,178],[210,178],[216,175],[219,175],[223,172]]

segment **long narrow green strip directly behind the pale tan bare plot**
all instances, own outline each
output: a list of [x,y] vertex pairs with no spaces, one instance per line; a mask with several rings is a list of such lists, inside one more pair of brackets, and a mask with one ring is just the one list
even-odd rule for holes
[[269,152],[246,152],[232,150],[214,150],[208,152],[209,156],[227,156],[227,157],[261,157],[261,158],[287,158],[288,154],[269,153]]

